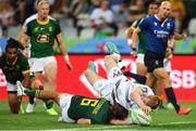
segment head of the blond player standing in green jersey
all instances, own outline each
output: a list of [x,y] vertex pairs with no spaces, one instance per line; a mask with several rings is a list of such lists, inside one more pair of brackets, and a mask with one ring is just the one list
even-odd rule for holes
[[37,13],[40,18],[47,18],[50,12],[50,4],[48,0],[37,0]]

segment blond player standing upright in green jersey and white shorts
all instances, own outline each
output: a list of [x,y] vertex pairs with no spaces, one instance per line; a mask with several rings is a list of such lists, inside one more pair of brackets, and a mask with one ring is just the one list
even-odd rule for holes
[[[56,90],[57,87],[57,62],[54,58],[53,44],[57,41],[60,47],[61,53],[69,69],[72,65],[69,61],[68,51],[62,38],[61,29],[56,19],[49,16],[50,4],[47,0],[37,0],[37,14],[28,17],[21,30],[20,41],[24,47],[30,47],[30,75],[35,77],[36,81],[34,88],[42,88],[45,90]],[[29,40],[29,45],[27,45]],[[40,74],[44,73],[44,86],[39,81]],[[26,112],[33,112],[33,104],[28,104]],[[49,114],[54,115],[54,110],[47,110]]]

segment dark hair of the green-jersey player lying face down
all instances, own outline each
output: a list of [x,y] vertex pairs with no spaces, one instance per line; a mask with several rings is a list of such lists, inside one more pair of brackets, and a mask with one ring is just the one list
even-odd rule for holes
[[110,120],[111,119],[123,120],[127,117],[127,115],[128,115],[128,110],[118,103],[115,103],[110,107]]

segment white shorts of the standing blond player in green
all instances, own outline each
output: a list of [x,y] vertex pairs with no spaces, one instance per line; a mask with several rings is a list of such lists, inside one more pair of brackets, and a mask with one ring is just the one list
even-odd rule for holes
[[49,63],[57,64],[57,61],[56,61],[54,56],[47,56],[47,57],[39,57],[39,58],[29,58],[28,63],[30,66],[30,75],[32,75],[33,73],[44,71],[45,67]]

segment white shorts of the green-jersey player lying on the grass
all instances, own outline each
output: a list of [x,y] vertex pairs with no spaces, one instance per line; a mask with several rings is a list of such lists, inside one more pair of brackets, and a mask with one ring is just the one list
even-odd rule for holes
[[62,109],[62,117],[61,117],[61,121],[64,122],[75,122],[75,120],[71,119],[68,115],[68,110],[70,108],[70,104],[71,104],[71,100],[72,100],[71,94],[61,94],[59,96],[59,105],[60,108]]

